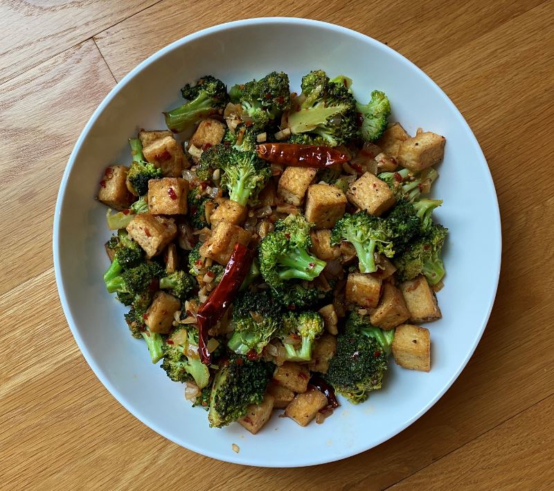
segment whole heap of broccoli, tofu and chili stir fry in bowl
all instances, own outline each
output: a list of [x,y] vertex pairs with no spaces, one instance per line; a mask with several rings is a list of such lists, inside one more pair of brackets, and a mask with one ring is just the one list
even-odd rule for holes
[[152,363],[211,427],[251,433],[275,409],[305,426],[366,401],[390,359],[428,372],[447,229],[427,195],[445,137],[410,136],[384,92],[357,99],[321,70],[299,92],[272,72],[181,93],[98,191],[105,285]]

